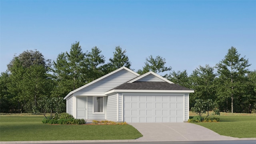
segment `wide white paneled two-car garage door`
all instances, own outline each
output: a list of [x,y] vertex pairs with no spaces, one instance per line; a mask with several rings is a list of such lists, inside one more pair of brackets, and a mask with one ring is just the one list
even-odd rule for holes
[[124,95],[125,122],[183,122],[183,96]]

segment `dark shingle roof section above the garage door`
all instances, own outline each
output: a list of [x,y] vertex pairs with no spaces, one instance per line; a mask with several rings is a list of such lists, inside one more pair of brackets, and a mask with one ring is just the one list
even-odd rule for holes
[[168,82],[132,82],[124,83],[112,90],[191,90]]

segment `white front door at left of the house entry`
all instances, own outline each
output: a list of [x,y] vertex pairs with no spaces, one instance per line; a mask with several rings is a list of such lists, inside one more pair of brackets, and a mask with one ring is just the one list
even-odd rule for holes
[[76,118],[86,119],[86,98],[76,98]]

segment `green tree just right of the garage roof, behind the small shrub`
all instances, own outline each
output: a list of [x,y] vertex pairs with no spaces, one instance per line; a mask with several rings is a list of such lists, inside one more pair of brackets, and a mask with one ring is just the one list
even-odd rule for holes
[[216,90],[214,87],[214,80],[216,74],[214,74],[214,68],[206,65],[205,67],[199,66],[189,76],[190,88],[195,90],[190,94],[190,107],[193,107],[196,99],[213,101],[216,100]]

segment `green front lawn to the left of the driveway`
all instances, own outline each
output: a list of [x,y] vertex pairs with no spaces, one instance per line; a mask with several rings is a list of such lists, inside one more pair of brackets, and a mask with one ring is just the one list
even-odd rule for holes
[[0,141],[125,140],[142,134],[130,125],[50,125],[42,115],[0,115]]

